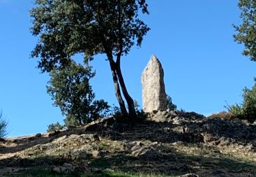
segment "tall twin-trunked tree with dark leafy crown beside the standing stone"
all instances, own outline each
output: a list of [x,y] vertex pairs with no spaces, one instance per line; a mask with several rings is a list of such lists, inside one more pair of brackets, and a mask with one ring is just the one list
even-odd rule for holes
[[51,71],[65,67],[74,54],[84,54],[86,62],[96,54],[106,54],[122,115],[129,112],[134,122],[134,101],[126,89],[120,64],[134,44],[141,46],[150,30],[139,19],[140,12],[149,14],[145,0],[35,0],[35,4],[31,31],[40,39],[31,55],[41,58],[38,67],[43,72]]

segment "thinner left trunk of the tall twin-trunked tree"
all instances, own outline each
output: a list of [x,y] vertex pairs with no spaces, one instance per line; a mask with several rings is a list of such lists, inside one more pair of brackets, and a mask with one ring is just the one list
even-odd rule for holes
[[111,72],[112,72],[112,77],[113,77],[113,82],[115,86],[115,96],[117,97],[117,101],[119,103],[121,112],[122,112],[122,117],[127,118],[128,117],[128,112],[126,110],[126,105],[124,103],[124,99],[122,98],[121,91],[119,88],[119,83],[117,80],[117,72],[115,69],[115,63],[113,63],[111,60],[109,60],[109,65],[111,67]]

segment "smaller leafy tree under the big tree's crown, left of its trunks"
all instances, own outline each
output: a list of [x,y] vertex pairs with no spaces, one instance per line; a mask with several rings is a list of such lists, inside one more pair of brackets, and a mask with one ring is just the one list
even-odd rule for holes
[[54,105],[59,106],[66,116],[66,125],[82,125],[100,118],[109,108],[103,100],[94,100],[95,94],[89,85],[94,76],[91,67],[70,62],[69,67],[53,69],[47,92],[52,96]]

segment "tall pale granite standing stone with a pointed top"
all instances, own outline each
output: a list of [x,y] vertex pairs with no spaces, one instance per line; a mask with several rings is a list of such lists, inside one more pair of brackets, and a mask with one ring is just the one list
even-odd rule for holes
[[166,110],[164,69],[155,55],[152,55],[145,67],[141,82],[144,112]]

